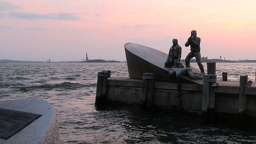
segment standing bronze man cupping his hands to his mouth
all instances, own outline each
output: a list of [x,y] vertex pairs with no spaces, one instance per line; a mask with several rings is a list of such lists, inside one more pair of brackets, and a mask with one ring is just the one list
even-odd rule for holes
[[191,31],[191,36],[188,38],[185,46],[188,47],[190,45],[191,52],[186,56],[186,68],[190,67],[190,59],[196,57],[196,62],[201,70],[201,74],[204,74],[204,66],[201,62],[201,54],[200,54],[200,42],[201,39],[196,36],[196,30]]

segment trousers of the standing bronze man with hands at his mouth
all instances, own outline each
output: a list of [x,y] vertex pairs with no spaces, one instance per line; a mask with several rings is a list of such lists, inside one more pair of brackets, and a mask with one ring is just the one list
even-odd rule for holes
[[201,63],[201,54],[200,52],[191,51],[186,56],[185,62],[186,62],[186,68],[190,68],[190,59],[196,57],[196,62],[201,70],[201,73],[204,72],[204,66]]

